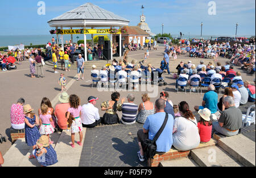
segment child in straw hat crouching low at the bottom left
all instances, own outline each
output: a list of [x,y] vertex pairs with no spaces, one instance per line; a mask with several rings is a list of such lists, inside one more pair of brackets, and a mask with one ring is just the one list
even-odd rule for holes
[[58,162],[57,154],[49,143],[46,135],[42,135],[36,142],[37,149],[33,150],[33,155],[41,166],[51,166]]

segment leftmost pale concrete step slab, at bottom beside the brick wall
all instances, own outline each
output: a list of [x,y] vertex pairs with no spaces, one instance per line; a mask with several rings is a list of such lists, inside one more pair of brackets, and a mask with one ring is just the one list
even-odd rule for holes
[[195,161],[189,158],[173,159],[160,162],[160,167],[199,167]]

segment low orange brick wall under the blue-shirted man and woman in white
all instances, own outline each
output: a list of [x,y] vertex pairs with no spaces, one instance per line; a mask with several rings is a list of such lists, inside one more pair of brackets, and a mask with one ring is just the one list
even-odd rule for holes
[[[218,141],[213,138],[213,139],[210,139],[210,141],[207,143],[200,143],[200,145],[196,149],[213,146],[213,145],[216,145],[217,142]],[[179,151],[179,150],[176,150],[174,147],[172,147],[170,151],[165,152],[164,154],[156,154],[154,156],[154,159],[148,159],[147,165],[148,165],[148,167],[158,167],[160,162],[162,162],[164,160],[172,160],[172,159],[188,157],[190,152],[191,152],[191,150]]]

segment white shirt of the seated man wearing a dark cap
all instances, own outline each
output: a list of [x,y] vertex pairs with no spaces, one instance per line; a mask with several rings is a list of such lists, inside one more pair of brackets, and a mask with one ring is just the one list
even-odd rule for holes
[[83,105],[80,118],[81,118],[82,124],[85,124],[85,125],[93,124],[96,120],[100,119],[98,108],[94,107],[94,105],[90,103]]

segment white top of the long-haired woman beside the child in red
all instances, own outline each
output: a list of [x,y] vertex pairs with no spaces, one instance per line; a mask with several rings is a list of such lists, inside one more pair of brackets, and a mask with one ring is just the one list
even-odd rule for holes
[[177,150],[187,151],[195,149],[200,144],[196,118],[194,120],[188,120],[185,117],[175,118],[173,132],[173,146]]

